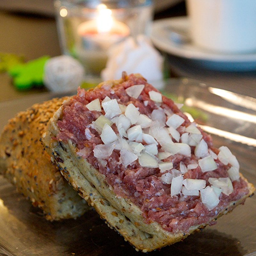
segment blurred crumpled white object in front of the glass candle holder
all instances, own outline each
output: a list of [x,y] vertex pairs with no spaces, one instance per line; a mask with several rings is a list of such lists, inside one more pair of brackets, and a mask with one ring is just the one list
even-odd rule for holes
[[120,79],[122,72],[126,71],[127,74],[140,73],[148,81],[162,80],[163,62],[163,57],[146,36],[139,35],[136,40],[128,37],[110,48],[101,78],[104,81]]

